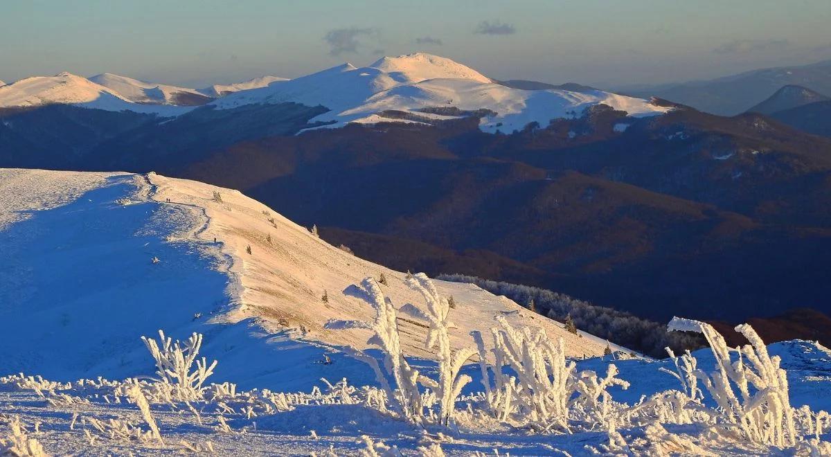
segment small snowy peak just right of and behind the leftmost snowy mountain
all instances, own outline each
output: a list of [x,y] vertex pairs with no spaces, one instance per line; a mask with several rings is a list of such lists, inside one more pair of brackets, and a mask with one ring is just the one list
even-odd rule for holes
[[135,103],[201,105],[209,101],[209,97],[195,89],[139,81],[127,76],[113,75],[112,73],[91,76],[89,80],[115,91],[120,96],[129,101],[135,101]]

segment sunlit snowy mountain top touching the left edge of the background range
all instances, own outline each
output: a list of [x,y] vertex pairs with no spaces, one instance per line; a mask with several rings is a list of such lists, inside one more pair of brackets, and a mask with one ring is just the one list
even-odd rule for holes
[[135,111],[159,115],[179,115],[189,111],[187,107],[134,103],[110,88],[67,72],[56,76],[33,76],[0,87],[0,108],[55,103],[106,111]]

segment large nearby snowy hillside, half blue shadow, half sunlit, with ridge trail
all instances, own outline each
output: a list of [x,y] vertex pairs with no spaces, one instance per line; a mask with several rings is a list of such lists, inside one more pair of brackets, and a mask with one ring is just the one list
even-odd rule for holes
[[[384,275],[396,306],[420,300],[405,273],[333,247],[237,191],[155,174],[39,170],[2,170],[0,189],[8,195],[0,204],[0,255],[9,259],[0,267],[0,316],[8,328],[0,334],[0,360],[7,371],[65,380],[135,376],[147,368],[133,347],[137,338],[164,328],[211,335],[206,349],[235,366],[234,381],[243,385],[305,386],[323,376],[314,362],[324,351],[366,347],[365,331],[324,328],[330,320],[371,319],[371,307],[346,297],[345,288]],[[455,343],[504,316],[562,335],[571,356],[596,356],[606,346],[479,287],[437,284],[457,303]],[[33,329],[26,324],[32,320],[40,322]],[[400,325],[407,353],[434,357],[425,351],[423,325]],[[96,332],[79,337],[84,328]],[[69,341],[72,356],[48,350]],[[238,349],[219,351],[220,344]],[[116,357],[116,348],[136,351]],[[297,371],[294,379],[246,362],[275,356],[310,359],[313,372]]]

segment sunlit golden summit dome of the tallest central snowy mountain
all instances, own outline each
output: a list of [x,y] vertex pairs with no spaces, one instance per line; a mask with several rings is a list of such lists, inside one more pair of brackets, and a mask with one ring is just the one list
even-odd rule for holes
[[381,57],[370,66],[385,73],[403,73],[411,82],[436,78],[491,82],[489,77],[475,71],[470,66],[462,65],[447,57],[434,56],[425,52],[414,52],[398,57]]

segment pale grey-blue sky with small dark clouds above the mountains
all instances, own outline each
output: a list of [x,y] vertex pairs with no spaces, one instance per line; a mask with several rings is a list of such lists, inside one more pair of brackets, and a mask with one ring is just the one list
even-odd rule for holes
[[829,0],[4,0],[0,80],[111,72],[203,87],[430,52],[604,88],[831,59]]

